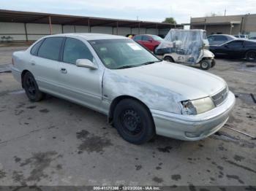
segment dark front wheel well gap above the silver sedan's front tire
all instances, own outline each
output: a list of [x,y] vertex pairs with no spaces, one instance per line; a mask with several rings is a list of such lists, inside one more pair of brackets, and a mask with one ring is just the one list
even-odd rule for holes
[[[140,104],[142,104],[143,106],[145,106],[145,108],[148,110],[149,114],[151,115],[152,117],[152,114],[150,112],[150,109],[148,108],[148,106],[146,106],[146,104],[144,104],[142,101],[140,101],[138,98],[135,98],[135,97],[132,97],[132,96],[129,96],[129,95],[121,95],[121,96],[118,96],[117,98],[115,98],[112,103],[110,104],[110,109],[109,109],[109,112],[108,112],[108,122],[110,124],[112,124],[113,122],[113,113],[115,111],[115,108],[117,106],[117,104],[124,100],[124,99],[132,99],[132,100],[135,100],[135,101],[138,101]],[[152,117],[152,120],[154,122],[154,119]]]

